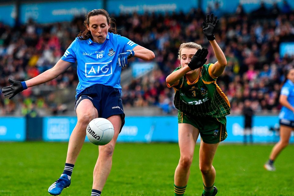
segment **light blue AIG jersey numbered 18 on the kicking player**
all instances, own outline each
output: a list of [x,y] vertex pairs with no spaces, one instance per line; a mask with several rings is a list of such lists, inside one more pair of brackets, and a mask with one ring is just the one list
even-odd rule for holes
[[116,65],[118,55],[133,50],[137,45],[126,37],[109,32],[104,43],[76,38],[61,57],[64,61],[77,61],[79,84],[76,98],[84,89],[95,84],[121,89],[122,68]]

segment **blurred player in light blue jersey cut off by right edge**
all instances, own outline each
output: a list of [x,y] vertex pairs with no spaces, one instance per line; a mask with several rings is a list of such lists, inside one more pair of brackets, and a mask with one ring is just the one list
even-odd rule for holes
[[275,171],[273,162],[289,144],[291,132],[294,131],[294,68],[286,72],[286,81],[281,89],[279,102],[282,105],[280,119],[280,141],[273,147],[269,160],[264,165],[268,171]]

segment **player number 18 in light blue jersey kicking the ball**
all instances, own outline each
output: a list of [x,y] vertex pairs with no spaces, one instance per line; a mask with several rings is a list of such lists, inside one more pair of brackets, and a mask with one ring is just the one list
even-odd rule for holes
[[43,84],[58,77],[77,61],[77,85],[75,126],[68,145],[66,163],[61,177],[48,192],[59,195],[70,186],[71,174],[77,156],[85,141],[86,126],[98,117],[108,119],[114,126],[113,139],[99,146],[99,156],[93,171],[92,196],[100,196],[111,170],[112,154],[120,130],[124,125],[121,100],[120,74],[128,64],[128,58],[153,59],[154,53],[116,32],[116,26],[104,9],[94,9],[85,18],[85,31],[70,44],[61,59],[51,69],[27,81],[14,81],[2,89],[11,99],[28,87]]

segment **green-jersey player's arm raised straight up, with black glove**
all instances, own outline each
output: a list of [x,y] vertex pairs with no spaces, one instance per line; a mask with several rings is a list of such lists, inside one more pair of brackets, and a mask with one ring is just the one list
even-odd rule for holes
[[206,22],[202,23],[204,35],[209,40],[209,43],[211,44],[213,48],[213,52],[217,58],[217,62],[215,62],[214,66],[212,66],[211,68],[211,73],[215,77],[219,77],[223,73],[224,68],[227,65],[227,59],[224,56],[223,51],[220,49],[219,45],[215,41],[214,32],[215,32],[217,23],[218,23],[217,16],[213,17],[213,14],[211,14],[210,17],[209,15],[207,15]]

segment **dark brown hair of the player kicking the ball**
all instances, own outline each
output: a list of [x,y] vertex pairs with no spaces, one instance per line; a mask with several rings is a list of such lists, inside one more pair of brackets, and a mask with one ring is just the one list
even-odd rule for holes
[[85,21],[84,21],[85,30],[78,34],[77,37],[79,40],[88,40],[89,38],[93,39],[93,36],[91,32],[88,30],[87,25],[89,26],[89,17],[97,16],[97,15],[105,16],[107,20],[107,24],[110,25],[108,32],[117,34],[115,22],[111,20],[109,13],[105,9],[93,9],[85,15]]

